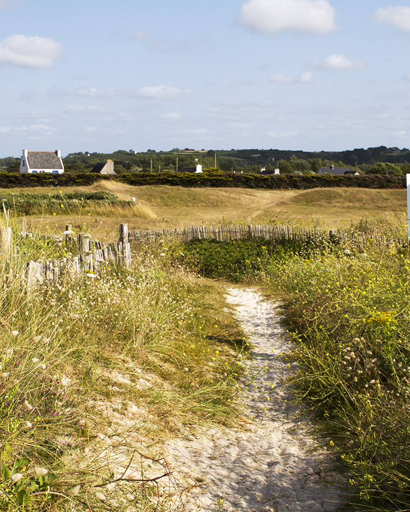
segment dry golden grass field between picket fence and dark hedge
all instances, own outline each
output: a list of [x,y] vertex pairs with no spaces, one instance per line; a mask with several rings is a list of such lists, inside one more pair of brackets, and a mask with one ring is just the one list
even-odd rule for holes
[[[32,188],[25,192],[50,193],[60,189]],[[167,185],[131,186],[101,181],[90,187],[64,187],[61,191],[107,190],[119,199],[136,198],[133,209],[92,208],[72,215],[33,216],[35,225],[50,232],[64,231],[66,224],[88,229],[95,238],[113,240],[118,225],[130,229],[161,229],[200,224],[278,222],[317,224],[331,228],[357,224],[363,217],[373,219],[385,212],[398,217],[406,211],[405,190],[364,188],[316,188],[310,190],[259,190],[246,188],[185,188]],[[9,190],[10,191],[10,190]],[[17,189],[13,190],[17,191]],[[405,223],[405,219],[403,220]]]

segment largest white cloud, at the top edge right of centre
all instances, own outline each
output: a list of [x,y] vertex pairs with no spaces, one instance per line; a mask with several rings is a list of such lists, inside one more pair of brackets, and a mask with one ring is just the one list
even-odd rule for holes
[[337,29],[335,14],[327,0],[248,0],[237,21],[264,34],[295,30],[321,36]]

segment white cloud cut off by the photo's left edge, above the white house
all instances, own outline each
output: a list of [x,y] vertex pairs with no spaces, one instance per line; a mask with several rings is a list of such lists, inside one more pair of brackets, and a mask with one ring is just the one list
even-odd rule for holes
[[63,55],[63,46],[50,37],[14,34],[0,42],[0,64],[51,68]]

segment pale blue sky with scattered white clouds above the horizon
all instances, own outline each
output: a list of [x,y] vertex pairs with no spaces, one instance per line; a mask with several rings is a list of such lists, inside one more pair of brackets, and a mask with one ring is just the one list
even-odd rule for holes
[[0,158],[410,147],[410,1],[0,0]]

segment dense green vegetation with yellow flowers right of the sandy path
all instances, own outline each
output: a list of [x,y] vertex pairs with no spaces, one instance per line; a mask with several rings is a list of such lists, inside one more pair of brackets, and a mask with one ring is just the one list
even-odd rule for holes
[[410,500],[408,249],[340,247],[266,270],[289,301],[301,369],[294,383],[358,489],[357,509]]

